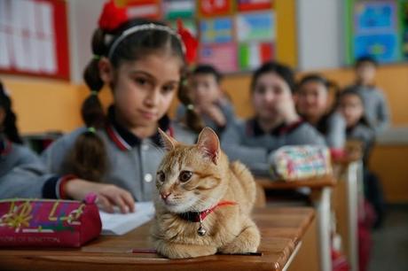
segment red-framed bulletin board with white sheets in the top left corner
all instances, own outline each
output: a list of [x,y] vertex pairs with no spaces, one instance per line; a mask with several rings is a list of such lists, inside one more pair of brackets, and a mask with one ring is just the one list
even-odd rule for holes
[[0,73],[69,80],[66,1],[0,0]]

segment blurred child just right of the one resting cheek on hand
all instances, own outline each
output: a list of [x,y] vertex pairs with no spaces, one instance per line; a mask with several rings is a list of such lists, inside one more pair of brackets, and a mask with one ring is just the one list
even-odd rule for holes
[[304,76],[295,92],[296,108],[302,118],[325,137],[328,147],[342,149],[346,142],[346,123],[329,105],[330,89],[336,90],[335,85],[325,77],[319,74]]

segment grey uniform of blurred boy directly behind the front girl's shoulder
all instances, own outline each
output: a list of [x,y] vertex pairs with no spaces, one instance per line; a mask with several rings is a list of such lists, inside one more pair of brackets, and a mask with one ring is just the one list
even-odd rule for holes
[[[201,118],[202,118],[205,126],[207,126],[209,128],[212,128],[216,132],[216,135],[221,137],[221,136],[223,136],[223,133],[226,130],[226,128],[229,125],[232,125],[236,121],[236,117],[235,117],[235,112],[234,112],[233,106],[231,105],[231,103],[228,100],[223,99],[220,102],[216,103],[216,106],[218,106],[220,108],[221,112],[223,112],[223,114],[224,114],[224,118],[225,118],[225,126],[224,127],[218,126],[216,124],[216,121],[212,120],[206,114],[201,114]],[[179,120],[179,121],[184,120],[185,112],[186,112],[185,106],[184,105],[179,105],[177,107],[176,120]]]

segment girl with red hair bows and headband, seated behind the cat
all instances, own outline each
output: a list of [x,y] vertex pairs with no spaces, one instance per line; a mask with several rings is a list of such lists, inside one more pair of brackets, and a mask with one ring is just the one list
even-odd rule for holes
[[[95,192],[105,210],[117,205],[127,213],[135,200],[152,200],[163,156],[158,128],[184,143],[195,136],[166,114],[177,91],[184,91],[180,35],[160,22],[118,16],[122,13],[108,2],[92,37],[94,57],[84,71],[90,89],[82,105],[86,127],[60,137],[42,157],[51,173],[75,175],[50,187],[80,200]],[[105,85],[114,97],[107,115],[98,98]]]

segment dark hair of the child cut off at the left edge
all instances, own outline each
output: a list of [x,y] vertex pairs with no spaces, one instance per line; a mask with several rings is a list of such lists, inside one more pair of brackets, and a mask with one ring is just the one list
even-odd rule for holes
[[13,143],[23,143],[21,140],[19,130],[16,127],[17,117],[12,111],[12,99],[5,93],[3,84],[0,82],[0,108],[3,108],[5,113],[4,122],[0,123],[0,132]]

